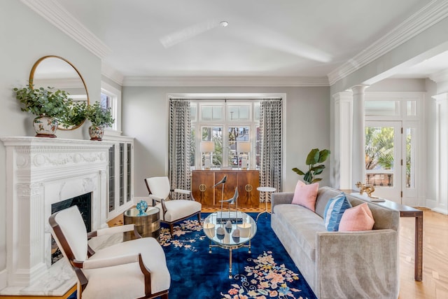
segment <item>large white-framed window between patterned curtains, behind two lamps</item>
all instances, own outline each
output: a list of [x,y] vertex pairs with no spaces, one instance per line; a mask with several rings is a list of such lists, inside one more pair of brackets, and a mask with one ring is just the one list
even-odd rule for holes
[[[260,167],[259,102],[197,100],[191,101],[190,113],[191,167],[201,169],[205,155],[210,155],[211,168],[239,168],[243,155],[248,157],[249,168]],[[213,141],[214,151],[201,153],[202,141]],[[240,142],[250,144],[251,150],[238,153]]]

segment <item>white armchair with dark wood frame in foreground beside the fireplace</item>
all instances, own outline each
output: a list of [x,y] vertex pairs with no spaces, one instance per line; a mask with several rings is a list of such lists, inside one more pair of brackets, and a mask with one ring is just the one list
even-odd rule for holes
[[152,237],[114,244],[94,252],[87,239],[134,230],[134,225],[87,234],[78,207],[52,214],[52,235],[78,277],[78,299],[168,299],[170,275],[162,246]]

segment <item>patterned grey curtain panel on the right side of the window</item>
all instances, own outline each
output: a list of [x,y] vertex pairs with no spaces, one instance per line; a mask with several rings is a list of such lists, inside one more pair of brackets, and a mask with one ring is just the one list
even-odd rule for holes
[[266,99],[260,102],[260,186],[281,192],[282,102]]

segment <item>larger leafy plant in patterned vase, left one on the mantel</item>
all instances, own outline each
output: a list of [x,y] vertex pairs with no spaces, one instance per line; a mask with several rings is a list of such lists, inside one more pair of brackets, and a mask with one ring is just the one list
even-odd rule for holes
[[36,137],[55,138],[58,120],[71,105],[69,93],[53,88],[34,88],[32,84],[26,88],[13,88],[15,97],[22,103],[20,110],[33,113],[33,125]]

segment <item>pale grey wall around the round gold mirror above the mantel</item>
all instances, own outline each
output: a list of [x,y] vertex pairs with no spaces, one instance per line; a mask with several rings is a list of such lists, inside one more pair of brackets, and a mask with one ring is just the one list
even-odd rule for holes
[[[34,62],[45,55],[69,60],[83,75],[90,100],[98,100],[101,60],[16,0],[0,2],[0,136],[34,136],[33,116],[20,111],[14,87],[25,87]],[[87,139],[86,127],[58,131],[58,138]],[[5,148],[0,142],[0,289],[6,283]]]

